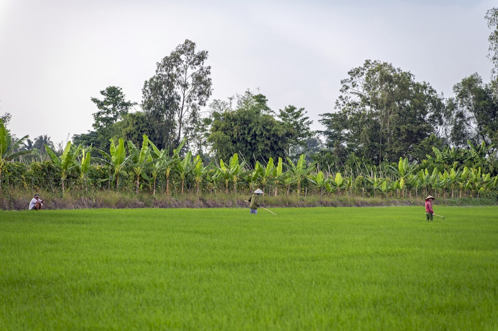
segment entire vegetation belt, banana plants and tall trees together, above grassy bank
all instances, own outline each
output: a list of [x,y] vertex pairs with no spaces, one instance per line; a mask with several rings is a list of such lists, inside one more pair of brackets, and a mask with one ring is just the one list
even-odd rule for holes
[[[493,8],[485,16],[494,30],[489,58],[495,69],[497,13]],[[298,196],[497,196],[496,76],[490,83],[477,73],[466,77],[445,99],[409,71],[367,59],[341,80],[335,112],[320,114],[324,129],[314,132],[304,108],[288,105],[276,113],[259,91],[214,100],[203,114],[212,92],[207,60],[194,42],[178,45],[144,82],[141,111],[129,112],[135,103],[121,88],[101,91],[103,100],[91,99],[95,131],[75,135],[65,148],[47,135],[11,141],[4,128],[0,180],[53,193],[69,187],[155,195],[159,188],[170,196],[194,187],[196,194],[213,194],[258,186]],[[24,163],[26,171],[7,161]]]

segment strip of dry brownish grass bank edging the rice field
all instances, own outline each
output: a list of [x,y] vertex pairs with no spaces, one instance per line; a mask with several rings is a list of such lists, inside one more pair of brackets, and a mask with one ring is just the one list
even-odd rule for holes
[[[10,191],[0,195],[0,209],[25,210],[34,193],[31,191]],[[93,208],[245,208],[249,194],[184,194],[157,195],[125,194],[115,191],[83,193],[68,191],[64,194],[40,193],[46,202],[46,209],[93,209]],[[386,207],[423,206],[425,196],[410,198],[375,198],[336,194],[263,196],[266,207]],[[497,206],[498,201],[490,198],[444,199],[438,197],[435,205],[448,206]]]

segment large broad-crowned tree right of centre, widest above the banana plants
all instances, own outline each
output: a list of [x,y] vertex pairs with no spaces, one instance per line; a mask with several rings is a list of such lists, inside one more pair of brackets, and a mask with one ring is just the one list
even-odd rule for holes
[[[328,146],[346,148],[380,164],[412,158],[414,146],[443,124],[442,97],[392,64],[365,61],[341,81],[337,113],[321,114]],[[335,140],[329,140],[330,138]]]

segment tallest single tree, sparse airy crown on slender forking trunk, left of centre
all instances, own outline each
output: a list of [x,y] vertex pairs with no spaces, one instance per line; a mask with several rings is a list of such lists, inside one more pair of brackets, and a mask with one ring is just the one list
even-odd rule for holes
[[187,141],[199,121],[201,107],[211,96],[211,66],[204,65],[208,51],[196,52],[196,44],[186,39],[169,56],[157,63],[156,77],[170,93],[170,105],[176,114],[176,142],[183,136]]

